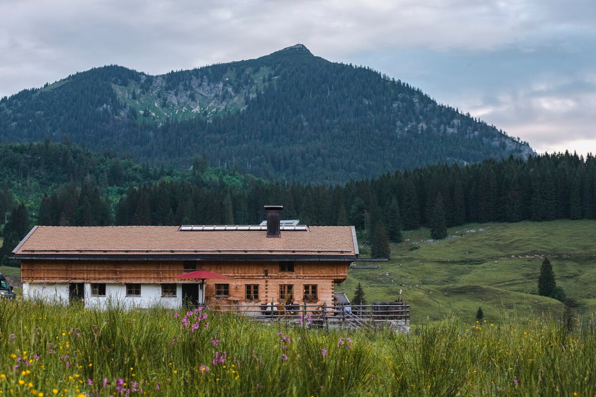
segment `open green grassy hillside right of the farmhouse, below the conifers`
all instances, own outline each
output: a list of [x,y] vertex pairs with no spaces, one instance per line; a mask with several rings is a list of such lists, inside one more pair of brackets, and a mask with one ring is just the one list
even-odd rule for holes
[[467,224],[449,229],[441,241],[429,240],[429,229],[405,232],[403,243],[392,245],[389,262],[375,262],[378,270],[350,270],[337,290],[351,299],[361,282],[373,302],[393,301],[402,289],[412,325],[448,314],[473,320],[478,307],[491,319],[548,311],[559,316],[563,304],[531,295],[538,292],[546,255],[557,286],[586,315],[596,310],[595,227],[593,220]]

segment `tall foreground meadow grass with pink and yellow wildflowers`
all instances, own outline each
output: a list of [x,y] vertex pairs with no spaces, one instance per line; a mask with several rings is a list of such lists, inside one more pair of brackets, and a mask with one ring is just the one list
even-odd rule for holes
[[2,396],[594,396],[594,352],[592,320],[452,318],[404,335],[0,302]]

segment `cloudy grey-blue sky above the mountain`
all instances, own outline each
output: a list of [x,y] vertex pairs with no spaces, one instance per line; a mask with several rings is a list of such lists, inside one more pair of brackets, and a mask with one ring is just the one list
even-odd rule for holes
[[0,0],[0,96],[106,64],[161,74],[296,43],[538,152],[596,153],[594,0]]

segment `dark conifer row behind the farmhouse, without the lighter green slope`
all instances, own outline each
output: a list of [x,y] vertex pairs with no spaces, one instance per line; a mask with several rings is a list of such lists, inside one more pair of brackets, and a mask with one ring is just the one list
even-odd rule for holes
[[[129,185],[110,201],[94,186],[62,186],[46,195],[38,224],[71,226],[257,224],[264,205],[284,205],[283,217],[314,225],[353,225],[371,243],[371,254],[388,255],[389,240],[402,230],[447,228],[473,222],[596,218],[596,159],[545,154],[485,160],[472,165],[432,165],[387,173],[345,185],[302,185],[236,179],[199,183],[204,160],[176,176]],[[204,167],[204,168],[201,168]],[[224,172],[222,170],[222,172]]]

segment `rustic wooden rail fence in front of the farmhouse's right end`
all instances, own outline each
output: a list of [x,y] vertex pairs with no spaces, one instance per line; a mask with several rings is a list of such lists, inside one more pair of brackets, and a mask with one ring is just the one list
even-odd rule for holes
[[374,302],[372,305],[261,304],[212,305],[212,310],[237,312],[262,321],[293,321],[309,326],[372,327],[389,321],[409,326],[409,304]]

